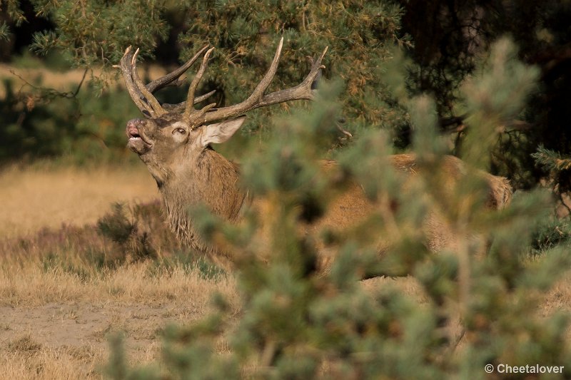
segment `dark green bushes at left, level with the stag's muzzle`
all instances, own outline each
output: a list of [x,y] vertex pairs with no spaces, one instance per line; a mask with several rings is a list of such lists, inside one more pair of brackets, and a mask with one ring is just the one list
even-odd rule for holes
[[136,107],[123,91],[94,101],[91,91],[59,92],[37,83],[14,89],[4,81],[0,99],[0,163],[55,158],[80,165],[134,162],[125,149],[125,115]]

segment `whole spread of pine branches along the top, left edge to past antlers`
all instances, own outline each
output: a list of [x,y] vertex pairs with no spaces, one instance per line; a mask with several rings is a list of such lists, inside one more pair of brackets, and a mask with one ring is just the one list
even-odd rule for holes
[[[203,91],[216,89],[221,106],[248,96],[271,61],[276,42],[284,36],[273,89],[300,83],[308,71],[306,56],[315,56],[329,46],[325,75],[345,82],[341,100],[343,114],[350,120],[348,130],[363,125],[391,128],[404,123],[403,110],[385,103],[390,99],[377,75],[378,67],[391,58],[391,46],[410,46],[408,37],[399,34],[402,11],[390,1],[156,4],[140,0],[66,0],[33,4],[36,15],[49,18],[55,28],[36,33],[31,50],[40,55],[61,51],[74,66],[82,68],[102,66],[103,73],[91,78],[97,88],[105,87],[111,75],[106,69],[118,63],[127,46],[140,48],[143,58],[153,56],[158,41],[168,36],[168,16],[183,19],[179,26],[183,33],[178,35],[183,46],[181,58],[189,58],[205,43],[217,48],[213,58],[216,64],[209,68]],[[267,114],[273,112],[253,113],[249,128],[261,128]]]

